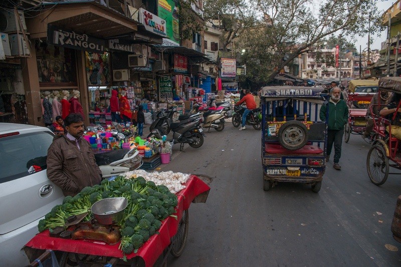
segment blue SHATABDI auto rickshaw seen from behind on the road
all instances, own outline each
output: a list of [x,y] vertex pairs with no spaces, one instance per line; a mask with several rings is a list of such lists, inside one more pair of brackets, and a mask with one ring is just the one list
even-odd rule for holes
[[263,189],[277,182],[301,182],[319,192],[325,172],[327,105],[323,88],[273,86],[262,88]]

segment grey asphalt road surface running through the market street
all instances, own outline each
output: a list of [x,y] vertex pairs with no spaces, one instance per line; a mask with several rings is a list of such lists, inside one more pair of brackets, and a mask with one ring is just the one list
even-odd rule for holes
[[262,189],[261,131],[206,133],[199,149],[173,147],[161,170],[211,179],[207,203],[191,204],[183,254],[170,266],[399,266],[401,248],[390,225],[401,177],[380,187],[366,172],[369,145],[352,135],[343,144],[342,170],[328,162],[322,189],[280,183]]

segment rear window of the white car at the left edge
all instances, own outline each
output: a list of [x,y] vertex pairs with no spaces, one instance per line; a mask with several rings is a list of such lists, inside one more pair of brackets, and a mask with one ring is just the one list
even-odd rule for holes
[[0,183],[46,169],[47,150],[52,141],[49,132],[0,138]]

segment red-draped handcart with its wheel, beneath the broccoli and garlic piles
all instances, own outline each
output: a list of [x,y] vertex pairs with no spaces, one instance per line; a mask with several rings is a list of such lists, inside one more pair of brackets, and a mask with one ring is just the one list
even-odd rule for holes
[[[109,245],[103,241],[87,239],[63,239],[51,237],[49,230],[38,233],[25,246],[28,257],[34,262],[38,249],[59,251],[60,266],[104,266],[107,263],[127,266],[152,266],[166,263],[168,252],[181,255],[188,233],[188,208],[191,202],[206,202],[210,187],[197,176],[191,175],[185,188],[178,193],[174,215],[162,221],[158,233],[152,235],[137,251],[126,255],[118,248],[119,243]],[[72,261],[72,262],[71,262]],[[34,264],[35,265],[35,264]],[[67,265],[67,266],[68,266]]]

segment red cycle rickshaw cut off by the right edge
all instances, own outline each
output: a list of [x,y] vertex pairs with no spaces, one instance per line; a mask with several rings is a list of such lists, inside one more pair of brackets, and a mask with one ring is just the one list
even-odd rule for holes
[[[380,78],[379,91],[382,90],[394,93],[393,99],[396,98],[396,95],[401,95],[401,77]],[[375,136],[372,147],[367,154],[366,167],[370,181],[375,185],[382,185],[387,180],[388,174],[399,174],[390,173],[389,167],[401,170],[401,142],[393,136],[390,127],[397,112],[384,118],[372,112],[373,106],[378,106],[379,110],[385,107],[380,104],[370,106]],[[396,103],[395,109],[399,112],[401,101]]]

